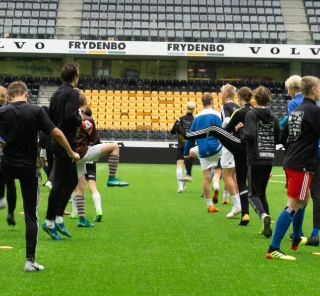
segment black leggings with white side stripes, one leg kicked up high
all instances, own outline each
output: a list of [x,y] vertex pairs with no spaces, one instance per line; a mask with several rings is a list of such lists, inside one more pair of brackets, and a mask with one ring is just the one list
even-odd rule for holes
[[237,184],[240,194],[241,215],[249,214],[248,187],[247,187],[247,154],[246,144],[219,125],[213,124],[204,129],[187,133],[187,139],[216,137],[234,156]]

